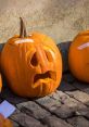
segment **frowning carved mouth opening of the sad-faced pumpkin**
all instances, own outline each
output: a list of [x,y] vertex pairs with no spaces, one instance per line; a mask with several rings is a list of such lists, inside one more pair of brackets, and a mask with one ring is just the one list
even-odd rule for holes
[[52,72],[52,71],[48,71],[43,74],[36,74],[35,77],[34,77],[34,84],[37,82],[39,79],[46,79],[46,78],[55,80],[56,79],[56,73]]

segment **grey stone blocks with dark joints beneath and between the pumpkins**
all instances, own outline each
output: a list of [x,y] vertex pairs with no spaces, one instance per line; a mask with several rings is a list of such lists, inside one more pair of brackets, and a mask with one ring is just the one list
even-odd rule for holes
[[5,99],[16,107],[10,116],[14,127],[89,127],[89,85],[78,81],[68,71],[69,43],[60,43],[64,69],[55,92],[31,100],[3,88],[0,102]]

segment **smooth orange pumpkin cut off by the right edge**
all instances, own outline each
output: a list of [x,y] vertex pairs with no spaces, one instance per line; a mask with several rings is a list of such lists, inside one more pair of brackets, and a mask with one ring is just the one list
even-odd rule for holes
[[89,82],[89,30],[79,33],[73,40],[68,65],[76,78]]

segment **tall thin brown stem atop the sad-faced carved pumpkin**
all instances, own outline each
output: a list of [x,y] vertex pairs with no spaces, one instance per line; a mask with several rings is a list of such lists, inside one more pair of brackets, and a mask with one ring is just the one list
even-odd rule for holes
[[24,37],[27,37],[26,27],[25,27],[23,18],[20,17],[20,20],[21,20],[20,37],[24,38]]

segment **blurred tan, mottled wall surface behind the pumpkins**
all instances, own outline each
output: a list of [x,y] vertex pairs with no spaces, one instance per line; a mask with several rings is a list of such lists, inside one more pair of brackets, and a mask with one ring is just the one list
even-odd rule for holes
[[89,0],[0,0],[0,43],[20,33],[20,16],[28,33],[64,42],[89,29]]

